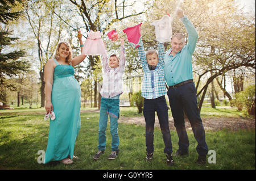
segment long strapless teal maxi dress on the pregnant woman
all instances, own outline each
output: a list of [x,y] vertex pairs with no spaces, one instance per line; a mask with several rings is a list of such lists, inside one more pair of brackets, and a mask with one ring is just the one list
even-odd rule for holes
[[73,158],[79,134],[81,89],[72,65],[57,64],[53,74],[51,101],[56,119],[50,120],[44,163]]

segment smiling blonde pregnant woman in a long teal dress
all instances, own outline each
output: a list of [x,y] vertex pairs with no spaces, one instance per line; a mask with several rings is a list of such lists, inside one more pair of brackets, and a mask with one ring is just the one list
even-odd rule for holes
[[50,120],[44,163],[60,161],[70,164],[75,158],[73,153],[80,129],[81,89],[73,76],[73,67],[85,57],[81,54],[72,58],[71,46],[62,41],[57,45],[54,58],[48,60],[44,68],[46,111],[53,111],[56,116],[55,120]]

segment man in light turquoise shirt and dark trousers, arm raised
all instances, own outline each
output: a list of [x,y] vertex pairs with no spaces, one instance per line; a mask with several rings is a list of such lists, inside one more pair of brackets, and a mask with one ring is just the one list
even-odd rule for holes
[[178,10],[177,16],[188,32],[188,44],[185,45],[183,34],[175,33],[171,39],[172,48],[164,56],[164,75],[169,86],[167,95],[179,137],[179,149],[176,155],[188,154],[189,141],[185,130],[184,110],[198,142],[196,150],[199,157],[196,162],[204,164],[208,146],[205,142],[204,126],[197,108],[196,87],[192,74],[192,54],[196,48],[198,34],[193,24],[183,14],[183,10]]

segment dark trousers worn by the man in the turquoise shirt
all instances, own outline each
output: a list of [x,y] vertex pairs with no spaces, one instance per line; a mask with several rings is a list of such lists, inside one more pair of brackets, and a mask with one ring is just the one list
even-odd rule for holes
[[196,147],[197,153],[199,155],[207,155],[208,147],[205,142],[204,126],[197,108],[195,84],[191,82],[175,89],[168,89],[167,95],[170,101],[172,117],[174,117],[174,125],[179,137],[179,150],[187,152],[189,146],[188,135],[185,129],[184,110],[198,143]]

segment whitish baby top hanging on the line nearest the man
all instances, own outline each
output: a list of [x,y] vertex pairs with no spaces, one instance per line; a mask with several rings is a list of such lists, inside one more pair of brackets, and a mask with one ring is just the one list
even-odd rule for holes
[[172,18],[168,15],[164,15],[162,19],[156,20],[150,25],[155,26],[156,40],[160,43],[170,41],[172,37]]

